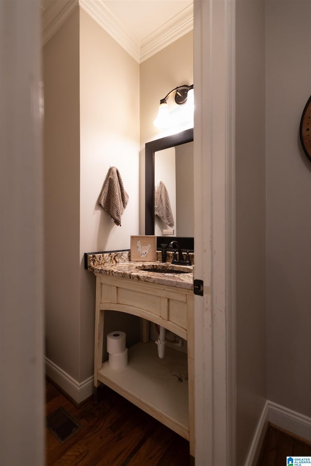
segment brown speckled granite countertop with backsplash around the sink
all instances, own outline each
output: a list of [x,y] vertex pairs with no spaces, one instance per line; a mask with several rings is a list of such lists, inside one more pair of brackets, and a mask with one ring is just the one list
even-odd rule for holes
[[[160,252],[157,252],[157,259],[160,258],[160,254]],[[193,260],[191,255],[190,258]],[[147,272],[142,269],[154,267],[171,268],[172,264],[171,262],[163,263],[159,260],[156,262],[134,262],[129,259],[129,251],[87,254],[87,269],[94,273],[102,273],[140,282],[156,283],[190,290],[193,289],[193,273],[188,272],[192,266],[173,266],[175,269],[187,270],[187,273]],[[169,256],[168,259],[170,259]]]

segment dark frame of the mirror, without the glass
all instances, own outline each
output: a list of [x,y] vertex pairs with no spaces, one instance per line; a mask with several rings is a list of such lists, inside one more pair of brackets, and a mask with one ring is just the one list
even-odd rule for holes
[[[145,234],[155,234],[155,152],[180,146],[193,141],[193,128],[172,134],[171,136],[155,139],[145,145]],[[160,239],[173,241],[176,239],[184,250],[193,250],[193,237],[181,238],[172,236],[158,236]]]

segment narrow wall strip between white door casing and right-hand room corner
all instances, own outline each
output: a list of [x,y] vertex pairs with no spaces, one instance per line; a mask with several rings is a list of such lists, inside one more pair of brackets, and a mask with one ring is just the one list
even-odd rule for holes
[[266,400],[264,1],[236,3],[237,464]]

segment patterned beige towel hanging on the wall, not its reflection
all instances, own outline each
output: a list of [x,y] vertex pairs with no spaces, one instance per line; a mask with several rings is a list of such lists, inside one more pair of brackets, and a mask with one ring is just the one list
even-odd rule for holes
[[110,214],[115,224],[121,226],[121,216],[127,203],[128,194],[124,189],[119,170],[115,166],[111,166],[108,178],[104,183],[99,204]]

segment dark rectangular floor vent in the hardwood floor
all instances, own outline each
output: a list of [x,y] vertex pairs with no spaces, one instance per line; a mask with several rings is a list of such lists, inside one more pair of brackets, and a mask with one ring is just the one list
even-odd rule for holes
[[58,408],[47,416],[47,427],[63,443],[82,426],[64,408]]

